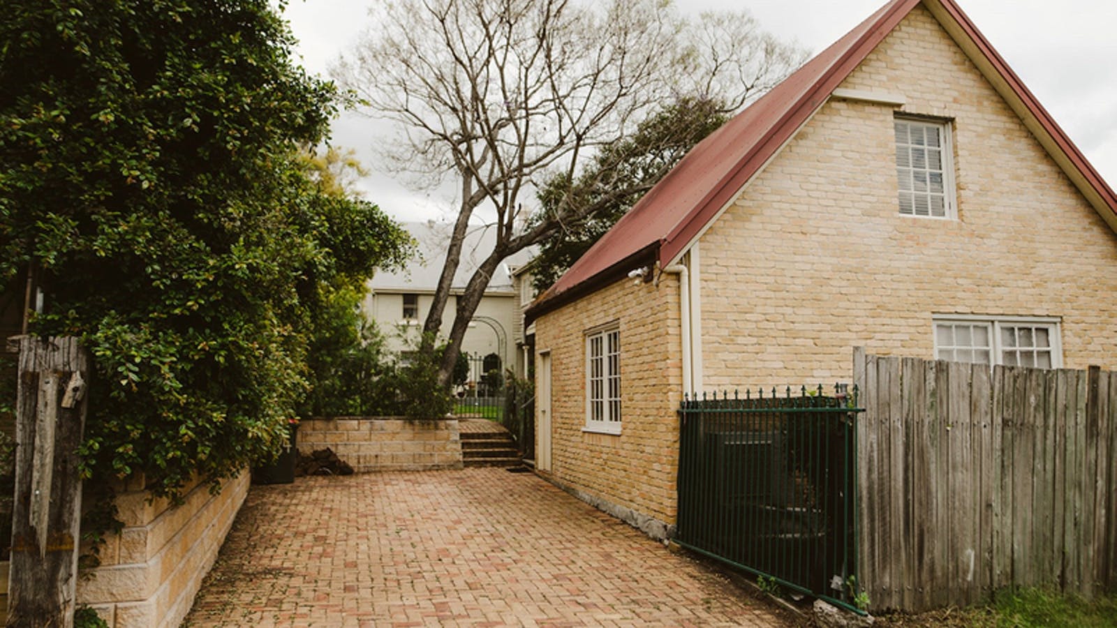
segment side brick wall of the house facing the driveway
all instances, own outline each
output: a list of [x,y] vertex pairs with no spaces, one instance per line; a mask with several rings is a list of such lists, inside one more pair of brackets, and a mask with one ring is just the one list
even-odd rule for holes
[[[675,523],[681,397],[678,278],[623,279],[536,322],[536,353],[551,352],[552,476],[573,494]],[[585,427],[585,332],[620,329],[621,434]],[[536,436],[536,443],[538,437]],[[659,465],[656,467],[656,465]],[[593,502],[591,502],[593,503]]]

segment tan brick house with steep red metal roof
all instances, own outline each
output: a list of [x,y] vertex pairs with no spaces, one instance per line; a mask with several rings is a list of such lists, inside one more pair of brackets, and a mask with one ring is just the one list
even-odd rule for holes
[[894,0],[728,122],[528,310],[537,466],[676,516],[684,391],[851,346],[1117,369],[1117,196],[953,0]]

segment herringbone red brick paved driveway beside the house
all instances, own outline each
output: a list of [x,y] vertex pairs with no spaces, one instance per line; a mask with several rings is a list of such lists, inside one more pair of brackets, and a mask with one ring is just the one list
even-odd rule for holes
[[254,486],[187,626],[783,626],[532,474]]

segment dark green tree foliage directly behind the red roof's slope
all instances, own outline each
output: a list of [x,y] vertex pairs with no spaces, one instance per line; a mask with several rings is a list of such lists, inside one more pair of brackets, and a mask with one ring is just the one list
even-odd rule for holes
[[648,189],[726,120],[720,103],[682,97],[640,123],[632,135],[604,146],[576,178],[552,178],[540,191],[542,211],[534,217],[536,223],[556,215],[564,203],[594,209],[563,223],[557,236],[541,245],[533,261],[535,287],[544,291],[555,283]]

